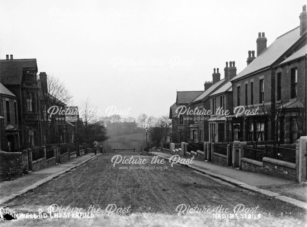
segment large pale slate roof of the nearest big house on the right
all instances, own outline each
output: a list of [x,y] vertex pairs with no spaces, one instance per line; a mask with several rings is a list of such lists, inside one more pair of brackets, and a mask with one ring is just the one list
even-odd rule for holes
[[246,68],[244,68],[231,81],[239,79],[247,74],[256,72],[272,65],[300,38],[300,26],[278,37],[258,57],[256,57]]

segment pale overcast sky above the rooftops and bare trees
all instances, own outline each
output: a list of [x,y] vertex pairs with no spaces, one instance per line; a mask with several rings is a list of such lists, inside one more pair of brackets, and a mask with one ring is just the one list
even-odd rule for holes
[[[0,59],[36,58],[73,102],[137,118],[169,114],[176,91],[202,91],[213,68],[246,67],[258,32],[267,46],[300,25],[305,1],[4,1]],[[127,114],[128,113],[128,114]]]

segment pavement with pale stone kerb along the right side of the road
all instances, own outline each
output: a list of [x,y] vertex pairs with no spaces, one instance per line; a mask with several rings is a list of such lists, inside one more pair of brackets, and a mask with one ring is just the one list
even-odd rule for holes
[[[162,152],[151,152],[161,158],[170,160],[171,154]],[[184,159],[185,163],[187,158]],[[172,161],[173,159],[171,159]],[[178,160],[178,159],[177,159]],[[184,161],[182,161],[183,163]],[[240,186],[244,189],[257,191],[259,193],[274,197],[284,202],[289,202],[298,207],[307,209],[307,185],[306,183],[299,184],[298,182],[287,180],[284,178],[273,177],[266,174],[253,173],[230,166],[219,166],[207,161],[198,161],[193,159],[192,163],[183,164],[201,173],[207,174],[214,178],[219,178],[223,181]]]

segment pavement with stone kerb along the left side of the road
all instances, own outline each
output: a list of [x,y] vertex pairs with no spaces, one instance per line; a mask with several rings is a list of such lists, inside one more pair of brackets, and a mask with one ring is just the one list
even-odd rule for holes
[[32,171],[12,181],[0,182],[0,204],[37,188],[41,184],[82,165],[84,162],[97,158],[99,155],[102,154],[94,155],[94,153],[88,153],[63,164],[54,165],[35,172]]

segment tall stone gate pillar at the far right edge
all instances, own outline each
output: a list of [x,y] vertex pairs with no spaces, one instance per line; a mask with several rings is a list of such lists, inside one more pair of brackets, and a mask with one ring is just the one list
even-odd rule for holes
[[301,136],[300,139],[297,140],[297,142],[298,142],[298,149],[296,146],[296,170],[297,170],[296,175],[297,175],[297,181],[301,183],[302,181],[306,181],[307,136]]

